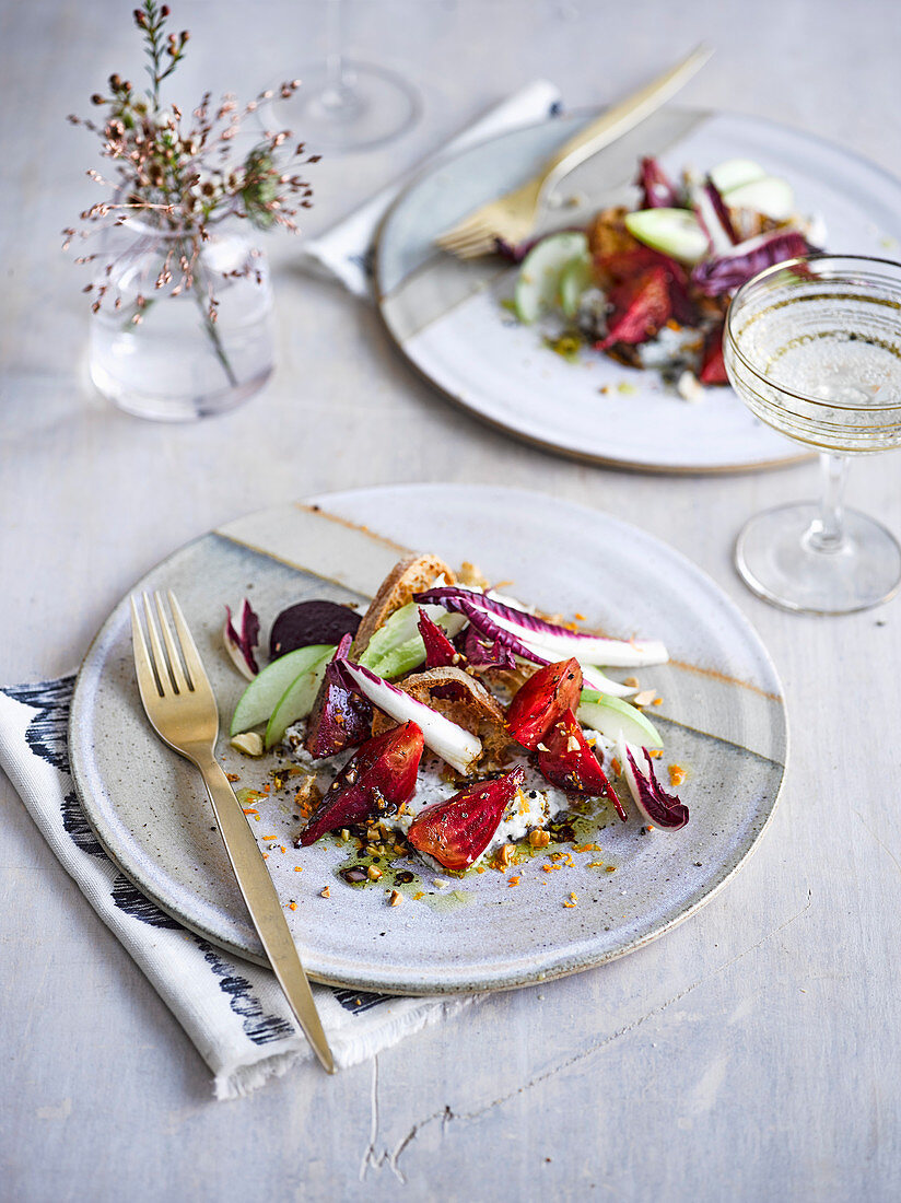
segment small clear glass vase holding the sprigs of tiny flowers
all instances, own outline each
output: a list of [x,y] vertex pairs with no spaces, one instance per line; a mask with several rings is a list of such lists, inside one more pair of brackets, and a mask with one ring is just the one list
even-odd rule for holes
[[177,422],[221,414],[263,386],[274,365],[272,288],[249,235],[238,219],[206,242],[131,218],[108,231],[90,331],[90,375],[105,397]]

